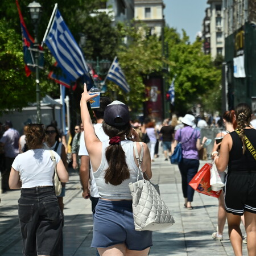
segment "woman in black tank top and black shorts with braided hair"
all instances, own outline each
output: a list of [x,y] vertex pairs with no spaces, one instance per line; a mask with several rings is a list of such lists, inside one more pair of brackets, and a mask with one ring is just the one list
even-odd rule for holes
[[[225,171],[228,166],[225,210],[235,255],[242,255],[240,222],[243,214],[248,254],[256,255],[256,130],[250,126],[251,117],[250,106],[238,104],[237,130],[222,139],[220,154],[213,152],[219,171]],[[217,151],[220,144],[214,143],[213,151]]]

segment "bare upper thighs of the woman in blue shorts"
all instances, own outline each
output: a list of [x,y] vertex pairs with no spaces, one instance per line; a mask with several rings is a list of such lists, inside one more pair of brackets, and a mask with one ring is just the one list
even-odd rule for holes
[[147,256],[148,252],[150,250],[150,247],[148,247],[145,250],[142,251],[134,251],[134,250],[128,250],[124,243],[119,243],[117,245],[109,246],[107,248],[97,248],[98,252],[101,256]]

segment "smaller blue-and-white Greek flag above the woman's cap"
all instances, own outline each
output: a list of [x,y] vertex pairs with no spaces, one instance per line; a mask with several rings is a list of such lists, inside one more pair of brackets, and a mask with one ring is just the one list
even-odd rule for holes
[[130,92],[130,86],[127,84],[125,75],[118,63],[117,56],[115,56],[113,63],[110,66],[108,75],[106,75],[105,80],[108,79],[113,81],[115,84],[120,86],[126,93]]

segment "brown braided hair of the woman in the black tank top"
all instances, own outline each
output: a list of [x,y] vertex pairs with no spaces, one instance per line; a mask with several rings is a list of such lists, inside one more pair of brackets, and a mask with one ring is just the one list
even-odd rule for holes
[[251,108],[246,103],[240,103],[236,106],[237,117],[237,129],[239,131],[239,137],[243,143],[243,154],[245,154],[245,126],[250,124]]

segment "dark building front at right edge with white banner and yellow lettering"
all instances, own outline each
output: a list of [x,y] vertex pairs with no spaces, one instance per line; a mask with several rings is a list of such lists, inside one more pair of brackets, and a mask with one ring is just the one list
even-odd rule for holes
[[256,112],[256,2],[224,0],[225,63],[222,72],[224,110],[240,102]]

